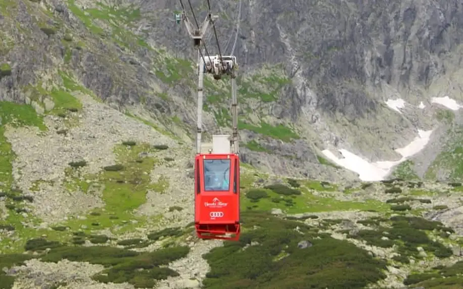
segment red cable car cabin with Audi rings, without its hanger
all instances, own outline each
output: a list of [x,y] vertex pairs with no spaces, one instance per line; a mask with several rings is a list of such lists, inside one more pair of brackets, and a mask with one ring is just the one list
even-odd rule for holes
[[203,239],[240,238],[240,160],[236,154],[195,159],[195,226]]

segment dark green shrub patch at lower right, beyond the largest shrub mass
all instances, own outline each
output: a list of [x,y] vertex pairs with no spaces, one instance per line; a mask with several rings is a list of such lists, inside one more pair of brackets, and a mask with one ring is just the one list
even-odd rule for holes
[[[382,226],[381,222],[387,222],[390,227]],[[418,247],[422,247],[427,253],[432,253],[438,258],[452,256],[451,249],[439,242],[434,242],[426,234],[426,231],[436,231],[440,232],[441,236],[447,237],[448,234],[454,232],[453,229],[445,227],[440,222],[419,217],[394,216],[389,220],[372,219],[361,221],[361,223],[376,228],[360,230],[349,237],[365,240],[368,245],[377,247],[398,246],[400,256],[394,257],[394,260],[398,262],[409,263],[408,257],[410,256],[421,259]]]

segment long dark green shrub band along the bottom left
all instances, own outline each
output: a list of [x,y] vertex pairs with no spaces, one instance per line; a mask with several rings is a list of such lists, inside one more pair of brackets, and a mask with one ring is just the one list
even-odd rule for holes
[[[44,254],[46,249],[50,249],[50,251]],[[21,265],[25,260],[32,258],[40,259],[43,262],[58,262],[63,259],[89,262],[106,267],[102,272],[94,275],[93,279],[104,283],[128,282],[137,288],[153,287],[156,280],[166,279],[168,276],[178,276],[177,272],[164,266],[186,257],[190,252],[188,247],[169,247],[154,252],[138,253],[106,246],[68,246],[43,238],[28,240],[25,250],[37,252],[39,255],[0,255],[0,266],[10,268],[14,265]],[[14,276],[7,276],[5,272],[0,271],[1,288],[11,288],[13,282]]]

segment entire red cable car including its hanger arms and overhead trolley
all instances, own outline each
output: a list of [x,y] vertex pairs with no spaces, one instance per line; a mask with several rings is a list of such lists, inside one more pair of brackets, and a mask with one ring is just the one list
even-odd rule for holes
[[[190,3],[190,2],[189,2]],[[194,40],[198,52],[197,138],[195,157],[195,228],[203,239],[239,240],[240,225],[240,159],[238,146],[238,99],[236,89],[235,56],[203,56],[202,38],[216,16],[209,13],[202,26],[189,22],[183,9],[182,21]],[[191,4],[190,4],[190,8]],[[210,8],[209,8],[210,9]],[[214,32],[215,32],[215,27]],[[217,37],[216,37],[217,38]],[[218,46],[218,45],[217,45]],[[205,46],[207,53],[207,49]],[[232,135],[213,135],[211,143],[202,142],[203,81],[204,74],[219,80],[228,75],[232,82]]]

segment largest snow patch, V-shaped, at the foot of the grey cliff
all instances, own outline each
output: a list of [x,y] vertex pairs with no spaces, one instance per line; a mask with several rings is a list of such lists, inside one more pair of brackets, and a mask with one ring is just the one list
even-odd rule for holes
[[395,150],[402,156],[398,161],[371,163],[344,149],[338,150],[343,155],[343,159],[339,159],[329,150],[323,150],[322,153],[337,165],[358,173],[362,181],[379,181],[384,180],[394,166],[406,161],[407,158],[423,150],[428,144],[432,132],[433,130],[424,131],[419,129],[418,136],[415,137],[415,139],[407,146]]

